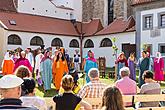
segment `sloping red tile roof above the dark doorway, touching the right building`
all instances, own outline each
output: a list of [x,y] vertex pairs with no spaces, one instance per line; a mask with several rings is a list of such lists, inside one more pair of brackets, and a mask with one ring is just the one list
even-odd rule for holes
[[124,20],[123,18],[114,20],[114,22],[105,27],[103,30],[96,33],[96,35],[115,34],[128,31],[135,31],[135,20],[132,16],[129,17],[127,20]]

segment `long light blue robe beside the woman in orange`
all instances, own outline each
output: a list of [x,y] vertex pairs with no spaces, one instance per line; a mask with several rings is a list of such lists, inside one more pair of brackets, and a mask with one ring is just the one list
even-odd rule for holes
[[44,89],[45,90],[51,89],[52,60],[47,58],[46,60],[42,61],[40,64],[40,72],[41,72],[42,80],[44,82]]

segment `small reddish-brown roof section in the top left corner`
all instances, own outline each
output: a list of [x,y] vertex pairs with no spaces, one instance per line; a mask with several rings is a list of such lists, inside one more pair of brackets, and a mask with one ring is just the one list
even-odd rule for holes
[[1,11],[14,11],[16,12],[16,5],[13,0],[0,0],[0,10]]

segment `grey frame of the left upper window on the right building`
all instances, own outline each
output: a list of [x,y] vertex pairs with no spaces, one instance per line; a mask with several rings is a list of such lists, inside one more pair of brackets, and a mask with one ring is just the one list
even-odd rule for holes
[[[151,17],[151,26],[149,28],[146,27],[146,18]],[[153,29],[153,14],[143,15],[143,30],[152,30]]]

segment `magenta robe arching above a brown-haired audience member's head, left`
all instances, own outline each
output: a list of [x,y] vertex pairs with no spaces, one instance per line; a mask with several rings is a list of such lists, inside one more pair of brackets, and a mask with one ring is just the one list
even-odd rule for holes
[[26,58],[19,58],[19,59],[15,62],[14,71],[15,71],[19,66],[21,66],[21,65],[26,66],[26,67],[30,70],[30,72],[33,71],[33,68],[32,68],[32,66],[30,65],[29,60],[26,59]]

